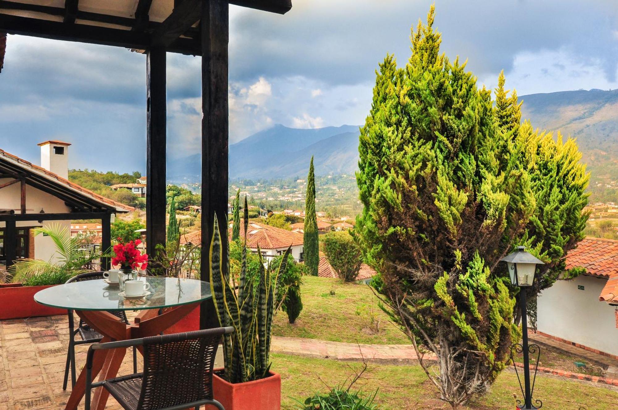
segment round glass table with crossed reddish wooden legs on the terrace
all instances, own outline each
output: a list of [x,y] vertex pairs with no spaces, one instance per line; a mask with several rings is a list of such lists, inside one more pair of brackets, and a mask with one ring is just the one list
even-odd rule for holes
[[[211,299],[210,283],[195,279],[140,277],[150,284],[149,295],[125,298],[117,285],[108,285],[103,279],[72,282],[46,288],[35,293],[34,299],[46,306],[74,310],[78,316],[103,335],[101,343],[157,336],[187,316],[200,303]],[[125,324],[109,311],[140,312],[133,324]],[[141,352],[141,346],[138,348]],[[96,350],[92,377],[99,380],[116,377],[124,359],[125,349]],[[82,369],[67,401],[66,410],[77,410],[86,387],[86,372]],[[91,409],[104,410],[108,390],[93,391]]]

